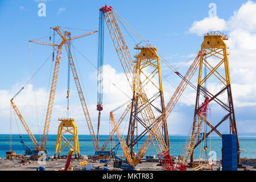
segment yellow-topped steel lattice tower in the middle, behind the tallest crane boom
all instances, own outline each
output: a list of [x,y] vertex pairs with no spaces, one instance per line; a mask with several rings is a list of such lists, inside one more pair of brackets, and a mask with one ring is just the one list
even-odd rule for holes
[[[138,55],[134,56],[135,60],[135,75],[141,80],[143,88],[146,89],[148,96],[150,97],[150,105],[161,115],[164,111],[164,96],[163,96],[163,85],[162,85],[162,73],[160,68],[160,59],[158,56],[157,48],[154,46],[135,46],[134,49],[138,50]],[[134,85],[136,87],[136,85]],[[154,91],[153,91],[154,90]],[[153,94],[150,94],[153,93]],[[138,143],[139,139],[144,136],[146,130],[138,135],[138,122],[143,123],[141,118],[138,116],[142,108],[138,107],[137,98],[138,93],[133,94],[133,100],[131,102],[129,128],[127,132],[126,143],[131,150],[131,156],[133,155],[133,147]],[[160,104],[159,104],[160,103]],[[166,117],[163,117],[162,134],[164,141],[168,148],[170,148],[170,140],[168,136],[168,129],[166,123]],[[136,133],[135,133],[136,132]]]

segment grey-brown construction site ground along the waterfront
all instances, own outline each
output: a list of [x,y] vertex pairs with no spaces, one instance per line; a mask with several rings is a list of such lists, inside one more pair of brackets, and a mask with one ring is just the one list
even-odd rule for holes
[[[45,161],[45,164],[39,164],[38,161],[22,161],[20,159],[13,159],[13,160],[6,160],[2,159],[0,160],[0,171],[36,171],[36,168],[39,168],[40,166],[44,166],[46,168],[46,171],[58,171],[61,169],[64,169],[65,163],[67,159],[57,159],[57,160],[49,160]],[[246,168],[238,168],[238,171],[256,171],[256,159],[242,159],[246,164],[243,164]],[[80,162],[83,162],[85,160],[77,160],[73,159],[69,169],[72,169],[72,171],[85,171],[86,165],[80,165]],[[110,159],[106,163],[100,163],[100,160],[86,160],[88,164],[93,164],[92,170],[100,170],[102,171],[103,168],[109,168],[110,171],[121,171],[123,169],[120,168],[114,168],[114,160]],[[139,163],[135,170],[137,171],[162,171],[163,168],[160,166],[160,163],[157,162],[158,160],[151,160],[151,162],[148,162],[147,160],[143,160],[141,163]],[[174,160],[174,163],[177,163],[177,160]],[[214,171],[221,170],[221,164],[220,160],[217,160],[217,164],[213,165]],[[187,171],[191,171],[192,168],[187,168]]]

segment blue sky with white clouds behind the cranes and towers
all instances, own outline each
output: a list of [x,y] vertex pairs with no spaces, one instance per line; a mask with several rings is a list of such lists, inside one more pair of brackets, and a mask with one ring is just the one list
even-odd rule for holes
[[[38,4],[46,4],[46,16],[38,16]],[[217,16],[214,19],[207,18],[209,12],[209,3],[216,3]],[[31,77],[31,60],[34,72],[51,54],[52,48],[49,46],[30,44],[28,40],[42,38],[52,34],[49,27],[61,26],[71,28],[81,28],[86,30],[98,30],[98,14],[100,7],[108,5],[113,6],[118,12],[145,40],[149,40],[158,48],[158,52],[174,67],[191,58],[200,50],[203,42],[203,30],[219,30],[230,37],[230,74],[232,76],[232,91],[238,133],[255,133],[255,81],[256,76],[254,68],[256,67],[255,46],[255,14],[254,1],[55,1],[55,0],[27,0],[27,1],[0,1],[0,22],[1,29],[1,84],[0,92],[0,133],[9,133],[10,104],[9,100]],[[247,11],[246,11],[247,9]],[[236,12],[236,13],[234,13]],[[249,12],[246,14],[246,12]],[[256,12],[256,11],[255,11]],[[196,23],[197,22],[197,23]],[[252,26],[247,26],[248,22]],[[222,23],[222,27],[220,27]],[[203,28],[202,28],[203,27]],[[121,26],[123,28],[123,26]],[[201,30],[201,31],[200,31]],[[84,34],[86,31],[69,30],[72,36]],[[206,33],[206,32],[204,32]],[[135,55],[133,47],[139,43],[131,34],[123,30],[123,34],[130,47],[131,55]],[[242,35],[242,36],[240,36]],[[133,37],[133,39],[131,38]],[[73,45],[79,49],[90,63],[97,66],[97,34],[75,40]],[[58,38],[59,39],[59,38]],[[49,42],[48,39],[40,39]],[[245,46],[244,46],[245,45]],[[248,51],[248,52],[247,52]],[[79,76],[82,82],[82,88],[86,95],[93,125],[96,127],[97,121],[97,80],[96,69],[88,60],[84,59],[79,52],[75,50],[73,54],[77,64]],[[67,56],[63,51],[61,60],[60,76],[57,85],[55,107],[50,127],[50,134],[56,134],[57,118],[65,117],[65,94],[67,90]],[[242,63],[241,63],[242,62]],[[118,78],[119,88],[123,92],[130,94],[129,89],[124,89],[125,77],[121,64],[119,63],[109,32],[105,26],[105,47],[104,64],[108,78]],[[189,65],[185,65],[180,72],[185,73]],[[15,99],[16,104],[24,113],[24,118],[31,127],[33,133],[40,133],[40,127],[45,117],[45,106],[47,101],[46,93],[49,73],[51,69],[51,60],[40,70],[34,78],[34,89],[32,85],[27,85],[25,90]],[[162,64],[162,75],[170,73],[170,69]],[[192,78],[196,84],[197,73]],[[114,82],[114,80],[113,80]],[[172,96],[174,88],[179,85],[180,79],[171,75],[167,80],[163,80],[164,96],[166,103]],[[33,82],[30,82],[33,84]],[[210,83],[208,83],[210,85]],[[214,85],[214,82],[212,83]],[[211,86],[211,85],[210,85]],[[113,91],[113,90],[112,90]],[[245,91],[245,92],[242,92]],[[36,107],[35,97],[36,94]],[[109,133],[109,111],[127,101],[128,98],[118,92],[115,88],[114,93],[104,94],[104,111],[102,112],[101,133]],[[170,118],[168,118],[169,134],[187,134],[191,127],[193,118],[193,104],[195,103],[195,91],[187,88],[181,101],[176,105]],[[211,106],[215,108],[215,105]],[[35,109],[36,108],[36,109]],[[124,109],[124,108],[122,108]],[[38,115],[36,115],[38,110]],[[117,112],[118,115],[122,113]],[[217,116],[222,111],[216,107],[212,109],[213,123],[217,122]],[[81,113],[76,93],[75,84],[71,77],[71,117],[77,119],[80,134],[88,134],[88,129]],[[214,116],[215,115],[215,116]],[[215,121],[215,120],[216,121]],[[13,119],[14,121],[14,119]],[[8,123],[8,125],[7,125]],[[15,126],[15,125],[14,125]],[[22,126],[19,125],[21,133],[25,133]],[[220,128],[225,132],[227,127]],[[14,133],[18,133],[16,126]],[[42,133],[41,133],[42,134]]]

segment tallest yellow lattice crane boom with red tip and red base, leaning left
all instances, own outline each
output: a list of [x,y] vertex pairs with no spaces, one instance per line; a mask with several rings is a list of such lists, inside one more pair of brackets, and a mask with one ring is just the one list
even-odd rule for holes
[[162,163],[162,166],[166,170],[174,170],[172,160],[170,158],[169,149],[164,142],[163,136],[160,132],[159,126],[155,125],[155,116],[151,109],[150,103],[142,86],[141,80],[138,77],[138,73],[135,72],[135,65],[129,48],[123,38],[122,31],[118,25],[117,18],[113,13],[112,7],[105,6],[100,9],[104,13],[105,22],[108,26],[110,35],[112,37],[115,49],[117,51],[119,60],[121,61],[123,71],[127,77],[129,85],[132,89],[135,99],[137,100],[138,107],[141,108],[140,113],[143,118],[144,126],[147,130],[151,127],[151,130],[148,130],[149,137],[153,143],[156,153]]

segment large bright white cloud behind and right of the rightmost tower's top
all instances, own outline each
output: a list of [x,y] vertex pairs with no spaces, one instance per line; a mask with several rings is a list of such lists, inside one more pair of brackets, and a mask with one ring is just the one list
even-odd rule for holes
[[234,102],[240,106],[255,106],[256,87],[256,3],[247,1],[228,19],[217,16],[193,22],[189,32],[203,35],[209,31],[226,31],[230,47],[230,75]]

